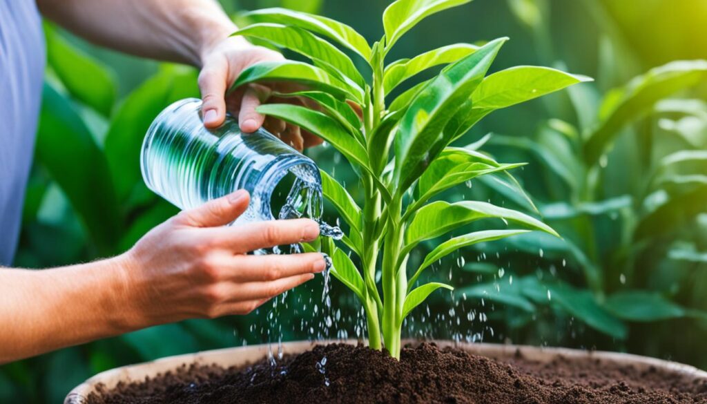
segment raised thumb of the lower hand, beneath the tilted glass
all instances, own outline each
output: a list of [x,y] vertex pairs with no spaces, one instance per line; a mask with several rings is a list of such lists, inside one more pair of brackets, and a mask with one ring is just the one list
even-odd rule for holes
[[238,190],[225,197],[211,200],[200,207],[185,210],[175,219],[186,226],[216,227],[225,226],[238,219],[245,212],[250,202],[246,190]]

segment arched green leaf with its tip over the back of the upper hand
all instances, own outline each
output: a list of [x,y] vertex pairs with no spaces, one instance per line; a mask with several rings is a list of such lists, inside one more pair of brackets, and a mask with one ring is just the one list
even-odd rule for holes
[[249,83],[270,81],[294,81],[315,90],[351,98],[358,104],[363,103],[361,88],[344,83],[319,67],[291,60],[252,64],[240,73],[229,91]]

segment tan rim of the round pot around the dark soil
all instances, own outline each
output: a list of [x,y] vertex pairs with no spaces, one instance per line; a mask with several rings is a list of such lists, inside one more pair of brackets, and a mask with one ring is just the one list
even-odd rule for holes
[[[283,351],[285,354],[298,354],[322,343],[327,342],[285,342],[283,344]],[[356,344],[357,342],[355,340],[349,340],[346,341],[346,343]],[[436,343],[440,347],[455,346],[469,353],[491,358],[503,359],[504,357],[511,357],[515,355],[517,350],[520,350],[523,357],[537,362],[550,362],[558,355],[568,358],[590,357],[592,359],[601,359],[605,362],[631,365],[637,369],[655,367],[686,374],[695,378],[707,378],[706,371],[701,371],[685,364],[618,352],[587,352],[569,350],[566,348],[530,347],[525,345],[455,344],[455,342],[451,341],[436,341]],[[177,355],[175,357],[158,359],[153,362],[111,369],[93,376],[80,386],[74,388],[74,390],[66,396],[64,404],[86,403],[86,398],[91,392],[95,391],[95,386],[98,383],[103,383],[107,388],[113,388],[119,381],[144,380],[146,376],[155,376],[156,374],[163,373],[170,369],[175,369],[185,363],[218,364],[222,367],[245,365],[247,363],[257,362],[266,357],[267,350],[267,345],[252,345],[228,348],[225,350],[198,352],[196,354]]]

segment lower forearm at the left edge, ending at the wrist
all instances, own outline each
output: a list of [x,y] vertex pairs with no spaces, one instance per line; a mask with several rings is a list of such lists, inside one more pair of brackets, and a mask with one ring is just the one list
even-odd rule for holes
[[52,270],[0,268],[0,363],[130,330],[121,258]]

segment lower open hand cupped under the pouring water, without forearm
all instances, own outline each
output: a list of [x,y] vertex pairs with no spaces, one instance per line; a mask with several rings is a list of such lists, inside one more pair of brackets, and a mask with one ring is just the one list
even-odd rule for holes
[[319,235],[310,219],[229,226],[245,212],[245,190],[181,212],[146,234],[123,260],[132,306],[128,328],[247,314],[325,269],[320,253],[246,255]]

